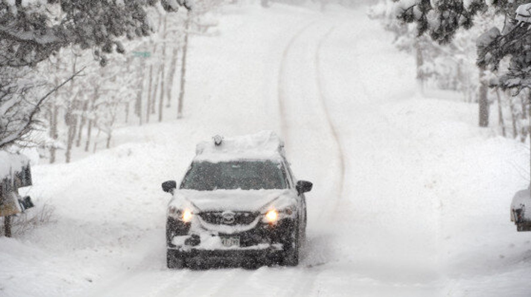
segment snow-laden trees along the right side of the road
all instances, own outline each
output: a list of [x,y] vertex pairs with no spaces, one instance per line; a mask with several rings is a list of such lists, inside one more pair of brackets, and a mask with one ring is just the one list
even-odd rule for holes
[[414,55],[421,91],[461,92],[478,103],[480,127],[489,125],[495,104],[500,133],[525,142],[531,133],[531,6],[522,4],[382,0],[369,15],[395,33],[400,50]]

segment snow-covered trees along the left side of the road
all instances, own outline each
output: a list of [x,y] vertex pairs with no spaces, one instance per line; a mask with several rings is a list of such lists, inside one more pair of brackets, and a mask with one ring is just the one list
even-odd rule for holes
[[118,121],[182,117],[189,37],[219,4],[0,2],[0,149],[38,146],[50,163],[64,149],[68,162],[74,147],[109,147]]

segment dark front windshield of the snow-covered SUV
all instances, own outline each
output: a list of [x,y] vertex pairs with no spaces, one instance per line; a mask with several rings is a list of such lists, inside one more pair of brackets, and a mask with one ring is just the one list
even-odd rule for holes
[[273,161],[229,161],[192,163],[181,188],[199,191],[260,190],[286,188],[284,169]]

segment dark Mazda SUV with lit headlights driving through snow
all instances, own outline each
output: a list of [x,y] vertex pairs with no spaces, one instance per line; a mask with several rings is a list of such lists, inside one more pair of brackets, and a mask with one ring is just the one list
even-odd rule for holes
[[312,186],[295,179],[284,142],[272,131],[198,143],[178,187],[175,181],[162,183],[172,194],[167,267],[210,261],[298,265],[306,235],[305,193]]

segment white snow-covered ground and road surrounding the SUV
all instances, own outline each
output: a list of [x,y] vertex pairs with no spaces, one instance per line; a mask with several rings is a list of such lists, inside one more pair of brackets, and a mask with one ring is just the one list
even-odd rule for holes
[[[530,296],[531,232],[509,221],[528,147],[477,128],[474,104],[418,95],[365,10],[222,9],[219,35],[192,40],[185,119],[32,167],[21,194],[55,222],[0,238],[0,296]],[[301,264],[168,270],[160,183],[196,142],[258,130],[314,183]]]

